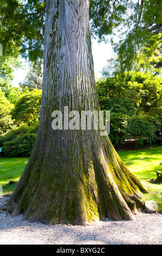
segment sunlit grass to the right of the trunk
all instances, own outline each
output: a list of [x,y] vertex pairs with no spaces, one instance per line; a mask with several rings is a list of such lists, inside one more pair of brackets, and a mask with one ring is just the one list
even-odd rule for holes
[[151,184],[147,180],[157,178],[156,170],[162,172],[162,165],[160,165],[162,147],[118,151],[118,154],[146,188],[147,193],[143,195],[142,200],[154,200],[159,206],[158,210],[160,210],[162,208],[162,184]]

